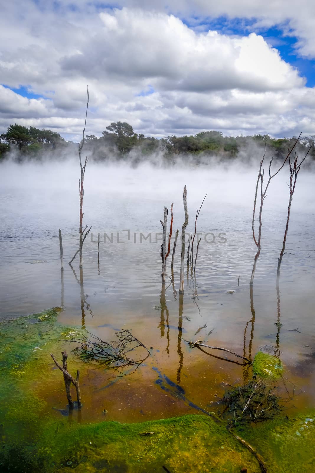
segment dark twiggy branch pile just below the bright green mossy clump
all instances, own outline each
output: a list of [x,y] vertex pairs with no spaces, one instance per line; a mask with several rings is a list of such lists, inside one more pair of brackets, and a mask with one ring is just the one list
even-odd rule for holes
[[245,386],[233,387],[224,394],[224,412],[232,414],[234,425],[271,419],[280,411],[279,396],[262,379],[252,379]]

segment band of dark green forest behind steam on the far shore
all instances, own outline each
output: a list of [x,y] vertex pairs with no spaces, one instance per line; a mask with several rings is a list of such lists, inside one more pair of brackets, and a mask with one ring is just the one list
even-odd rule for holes
[[[230,160],[235,157],[248,160],[252,154],[264,147],[268,155],[281,158],[292,146],[296,137],[272,138],[269,135],[223,136],[221,131],[201,131],[190,136],[165,136],[163,138],[145,137],[135,133],[127,122],[113,122],[102,132],[101,137],[85,136],[85,153],[95,161],[121,160],[137,163],[155,156],[165,162],[176,162],[176,157],[189,156],[193,163],[207,162],[204,158],[215,157]],[[298,151],[303,153],[314,141],[314,136],[302,137]],[[255,147],[256,146],[256,147]],[[255,148],[254,148],[255,147]],[[6,133],[0,135],[0,159],[13,157],[17,161],[26,159],[64,158],[77,150],[77,143],[64,140],[59,133],[40,130],[35,127],[10,125]],[[13,151],[13,153],[11,152]],[[255,153],[256,154],[256,153]],[[259,154],[259,157],[260,154]],[[310,160],[315,159],[315,150],[310,153]]]

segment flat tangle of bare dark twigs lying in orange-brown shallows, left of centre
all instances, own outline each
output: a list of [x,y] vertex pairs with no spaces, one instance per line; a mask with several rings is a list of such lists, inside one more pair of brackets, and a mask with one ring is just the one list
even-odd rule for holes
[[[122,367],[142,363],[150,354],[145,345],[134,337],[129,330],[114,333],[116,340],[113,342],[103,342],[96,335],[90,335],[90,339],[86,335],[82,335],[81,339],[70,340],[70,342],[79,344],[73,352],[80,358],[88,361],[105,363],[113,367]],[[138,347],[144,348],[148,355],[144,359],[137,361],[128,358],[128,353],[136,350]]]

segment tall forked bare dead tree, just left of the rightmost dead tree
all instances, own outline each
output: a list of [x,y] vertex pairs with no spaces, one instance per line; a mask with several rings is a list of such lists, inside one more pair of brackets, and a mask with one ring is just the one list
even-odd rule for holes
[[[250,284],[253,284],[254,282],[254,276],[255,276],[255,270],[256,270],[256,264],[257,260],[260,255],[261,251],[261,234],[262,234],[262,213],[263,213],[263,205],[264,205],[264,199],[267,196],[267,190],[269,187],[269,184],[272,180],[273,177],[275,177],[282,169],[282,167],[285,165],[287,159],[290,157],[290,154],[292,153],[293,149],[296,147],[298,140],[300,139],[302,133],[299,134],[298,139],[295,141],[291,149],[289,149],[288,154],[286,158],[283,160],[282,165],[279,167],[278,171],[276,171],[274,174],[271,174],[271,165],[273,158],[271,158],[270,163],[269,163],[269,178],[267,181],[267,184],[265,185],[264,188],[264,169],[262,170],[262,166],[264,163],[264,157],[266,154],[266,145],[265,145],[265,151],[264,151],[264,156],[263,159],[260,161],[260,167],[258,171],[258,177],[257,177],[257,183],[256,183],[256,191],[255,191],[255,200],[254,200],[254,210],[253,210],[253,219],[252,219],[252,232],[253,232],[253,239],[255,242],[255,245],[257,246],[257,253],[255,254],[254,258],[254,264],[253,264],[253,270],[250,278]],[[258,188],[260,189],[260,206],[259,206],[259,227],[258,227],[258,238],[256,238],[255,234],[255,211],[256,211],[256,203],[257,203],[257,195],[258,195]]]

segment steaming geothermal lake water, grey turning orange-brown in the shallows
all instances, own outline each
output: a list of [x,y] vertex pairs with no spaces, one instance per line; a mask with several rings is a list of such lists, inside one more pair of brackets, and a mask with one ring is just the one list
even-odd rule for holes
[[[68,265],[78,248],[77,161],[0,166],[0,318],[63,306],[62,324],[83,327],[108,341],[120,329],[129,329],[150,350],[144,363],[124,376],[99,366],[87,368],[81,377],[82,422],[103,420],[104,408],[107,420],[121,422],[219,409],[227,385],[246,381],[248,369],[241,359],[223,351],[207,350],[209,356],[190,349],[186,341],[198,339],[249,358],[259,350],[279,354],[285,367],[279,392],[289,398],[288,411],[315,406],[314,175],[301,171],[298,176],[278,294],[277,259],[289,197],[287,170],[272,180],[263,211],[262,252],[250,294],[256,252],[251,232],[256,175],[255,167],[161,169],[89,162],[84,225],[92,229],[85,240],[80,273],[78,258],[73,268]],[[174,202],[173,236],[177,228],[180,235],[185,184],[187,231],[194,230],[196,210],[206,193],[207,197],[197,222],[202,235],[196,272],[186,272],[185,264],[181,298],[180,237],[174,283],[167,278],[162,285],[160,219],[166,206],[170,223]],[[106,236],[104,242],[104,233],[110,238],[113,234],[112,243]],[[151,242],[143,236],[140,241],[141,233],[151,234]],[[171,255],[169,275],[170,259]],[[60,351],[63,348],[60,342]],[[69,355],[72,362],[75,357]],[[62,377],[53,389],[43,387],[42,396],[50,406],[64,409]]]

